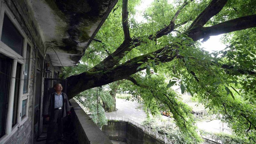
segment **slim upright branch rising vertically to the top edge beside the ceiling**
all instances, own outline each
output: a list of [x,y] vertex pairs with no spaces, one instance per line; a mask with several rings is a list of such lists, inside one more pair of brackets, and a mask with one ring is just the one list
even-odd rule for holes
[[122,6],[122,24],[124,30],[124,40],[130,41],[130,30],[129,30],[129,23],[128,23],[128,0],[123,0]]

